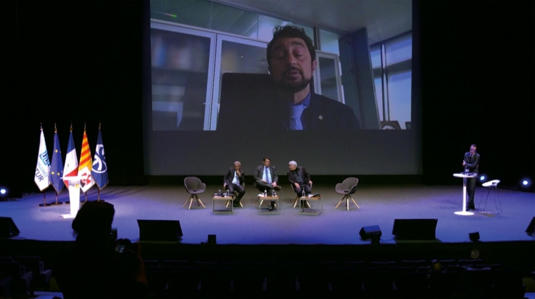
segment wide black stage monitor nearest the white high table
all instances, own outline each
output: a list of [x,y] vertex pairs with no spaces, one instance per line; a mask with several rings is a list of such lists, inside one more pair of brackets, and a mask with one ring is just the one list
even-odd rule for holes
[[396,219],[392,234],[396,240],[435,240],[438,219]]

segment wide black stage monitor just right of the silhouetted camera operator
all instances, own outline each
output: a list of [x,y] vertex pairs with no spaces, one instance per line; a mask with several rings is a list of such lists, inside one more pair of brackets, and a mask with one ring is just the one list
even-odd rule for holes
[[137,220],[139,241],[176,242],[182,238],[178,220]]

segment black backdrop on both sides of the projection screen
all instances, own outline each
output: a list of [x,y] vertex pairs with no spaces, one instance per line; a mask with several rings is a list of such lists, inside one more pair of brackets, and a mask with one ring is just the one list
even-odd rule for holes
[[[1,2],[0,185],[10,196],[38,191],[40,123],[50,152],[54,123],[66,151],[73,121],[80,154],[84,123],[94,151],[101,122],[110,184],[148,182],[141,136],[142,98],[150,96],[150,72],[143,72],[150,65],[148,4]],[[452,174],[472,143],[491,179],[515,186],[522,175],[534,177],[534,6],[416,3],[413,87],[421,90],[426,184],[460,184]]]

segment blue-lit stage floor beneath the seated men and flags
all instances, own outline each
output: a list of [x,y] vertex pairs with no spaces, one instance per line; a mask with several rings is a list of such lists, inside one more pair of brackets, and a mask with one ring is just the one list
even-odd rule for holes
[[[351,210],[344,208],[341,195],[334,186],[315,184],[314,193],[324,198],[320,215],[299,215],[292,208],[295,198],[288,184],[279,192],[280,212],[276,215],[258,214],[258,191],[251,186],[242,199],[244,208],[234,208],[233,215],[213,215],[212,196],[220,185],[207,186],[200,195],[206,208],[182,207],[188,194],[184,186],[108,186],[101,191],[101,199],[115,205],[113,226],[118,238],[139,239],[137,220],[180,220],[182,243],[206,242],[208,234],[217,235],[218,244],[369,244],[360,239],[361,227],[379,225],[381,243],[396,243],[391,231],[395,219],[438,219],[436,238],[443,243],[470,242],[469,233],[479,231],[480,241],[533,241],[526,230],[535,216],[535,193],[498,189],[503,215],[455,215],[462,210],[462,186],[364,186],[357,189],[350,201]],[[486,189],[477,187],[475,204],[479,204]],[[89,200],[96,200],[97,189],[88,191]],[[81,196],[82,201],[84,196]],[[53,189],[46,191],[47,202],[55,201]],[[63,190],[59,201],[68,200]],[[72,219],[63,219],[69,205],[39,207],[42,193],[23,196],[17,201],[0,202],[0,216],[11,217],[20,230],[15,239],[38,241],[73,241]],[[194,203],[195,205],[195,203]],[[491,196],[487,210],[496,214]]]

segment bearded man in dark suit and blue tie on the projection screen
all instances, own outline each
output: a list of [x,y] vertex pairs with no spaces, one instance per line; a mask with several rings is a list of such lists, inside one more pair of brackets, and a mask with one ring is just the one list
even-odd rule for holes
[[267,69],[277,86],[275,110],[282,114],[284,127],[290,130],[359,129],[351,108],[310,91],[316,63],[312,39],[303,28],[275,28],[267,45]]

